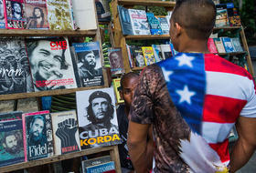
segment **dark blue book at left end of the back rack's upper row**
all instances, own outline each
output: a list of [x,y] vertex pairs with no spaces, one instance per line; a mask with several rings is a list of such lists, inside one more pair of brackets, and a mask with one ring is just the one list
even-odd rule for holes
[[117,9],[119,13],[119,20],[120,25],[122,27],[123,35],[133,35],[132,21],[128,9],[124,8],[121,5],[118,5]]

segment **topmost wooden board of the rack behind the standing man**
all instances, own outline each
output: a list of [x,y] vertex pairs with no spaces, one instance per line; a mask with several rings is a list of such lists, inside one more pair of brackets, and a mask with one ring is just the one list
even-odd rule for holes
[[164,6],[174,8],[175,2],[170,1],[145,1],[145,0],[118,0],[119,5],[144,5],[144,6]]

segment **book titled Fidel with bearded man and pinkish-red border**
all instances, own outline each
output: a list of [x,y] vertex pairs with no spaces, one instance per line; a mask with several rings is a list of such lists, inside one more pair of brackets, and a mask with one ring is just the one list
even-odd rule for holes
[[25,160],[53,156],[53,138],[49,111],[37,111],[22,115]]

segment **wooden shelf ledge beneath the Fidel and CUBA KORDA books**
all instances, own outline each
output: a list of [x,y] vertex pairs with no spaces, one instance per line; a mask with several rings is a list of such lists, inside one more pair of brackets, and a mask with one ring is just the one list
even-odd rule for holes
[[37,160],[33,160],[33,161],[28,161],[28,162],[21,162],[21,163],[17,163],[14,165],[9,165],[9,166],[0,168],[0,172],[10,172],[10,171],[14,171],[14,170],[22,169],[22,168],[36,167],[39,165],[49,164],[49,163],[53,163],[53,162],[57,162],[57,161],[65,160],[65,159],[69,159],[69,158],[78,158],[78,157],[81,157],[84,155],[100,153],[101,151],[112,152],[112,150],[114,150],[115,148],[117,148],[117,146],[110,146],[110,147],[104,147],[104,148],[90,148],[90,149],[82,150],[79,152],[73,152],[73,153],[69,153],[69,154],[65,154],[65,155],[53,156],[50,158],[42,158],[42,159],[37,159]]

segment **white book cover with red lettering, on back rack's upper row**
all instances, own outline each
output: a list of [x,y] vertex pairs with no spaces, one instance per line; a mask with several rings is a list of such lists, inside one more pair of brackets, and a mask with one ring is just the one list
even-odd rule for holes
[[133,35],[150,35],[150,29],[144,10],[128,9]]

